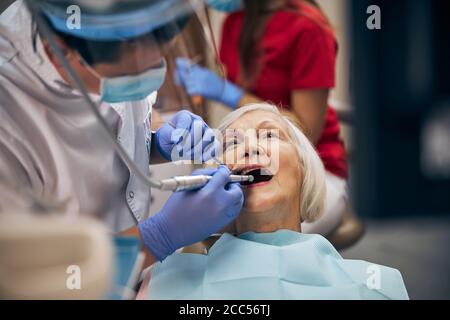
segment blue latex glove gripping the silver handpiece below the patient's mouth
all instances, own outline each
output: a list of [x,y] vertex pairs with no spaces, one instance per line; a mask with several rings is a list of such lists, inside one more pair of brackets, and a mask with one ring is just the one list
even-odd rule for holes
[[244,195],[239,184],[228,183],[227,167],[195,174],[213,178],[199,190],[173,193],[160,212],[138,225],[144,244],[160,261],[219,231],[241,211]]

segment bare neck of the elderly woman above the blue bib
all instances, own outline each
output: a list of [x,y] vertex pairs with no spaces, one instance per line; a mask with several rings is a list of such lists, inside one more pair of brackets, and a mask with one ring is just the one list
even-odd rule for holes
[[248,212],[243,209],[235,223],[237,234],[249,231],[267,233],[280,229],[301,232],[299,206],[291,203],[261,212]]

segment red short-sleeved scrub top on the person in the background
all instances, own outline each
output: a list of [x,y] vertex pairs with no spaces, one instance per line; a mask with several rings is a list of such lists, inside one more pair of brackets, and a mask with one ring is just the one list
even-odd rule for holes
[[[290,109],[294,90],[333,88],[337,43],[320,10],[298,3],[299,10],[280,10],[268,20],[261,38],[261,69],[249,90],[262,100]],[[227,78],[239,84],[239,36],[244,12],[226,18],[220,59]],[[328,107],[322,135],[316,145],[325,168],[347,178],[345,149],[339,137],[336,112]]]

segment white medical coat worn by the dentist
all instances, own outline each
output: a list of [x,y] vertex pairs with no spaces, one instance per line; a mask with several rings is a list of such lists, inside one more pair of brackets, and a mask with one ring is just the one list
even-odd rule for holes
[[[139,103],[100,105],[119,143],[146,174],[155,100],[156,92]],[[33,48],[24,3],[11,5],[0,16],[3,183],[65,203],[66,214],[96,216],[112,231],[132,227],[148,216],[150,188],[130,174],[102,130],[50,63],[39,37]]]

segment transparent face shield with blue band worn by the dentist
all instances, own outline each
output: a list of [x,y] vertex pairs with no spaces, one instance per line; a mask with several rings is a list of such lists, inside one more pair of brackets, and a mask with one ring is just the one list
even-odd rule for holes
[[38,23],[44,41],[52,36],[68,60],[72,70],[67,73],[75,73],[84,89],[104,102],[143,100],[159,91],[157,109],[176,111],[184,105],[201,113],[201,101],[177,84],[175,59],[208,65],[223,76],[202,0],[35,0],[28,5],[46,24]]

